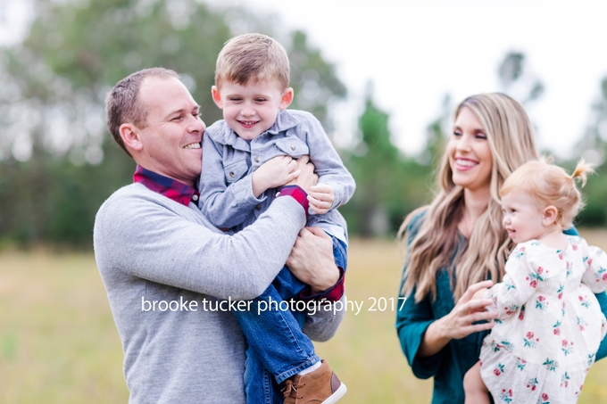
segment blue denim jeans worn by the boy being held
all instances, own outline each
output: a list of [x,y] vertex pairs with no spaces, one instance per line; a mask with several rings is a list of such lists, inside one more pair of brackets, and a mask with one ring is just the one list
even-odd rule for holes
[[[331,238],[336,265],[345,270],[345,243]],[[283,267],[268,289],[251,301],[249,310],[233,311],[248,343],[245,361],[247,404],[282,404],[284,399],[279,384],[320,360],[312,341],[302,332],[305,312],[290,310],[293,303],[286,309],[287,302],[296,301],[306,286]]]

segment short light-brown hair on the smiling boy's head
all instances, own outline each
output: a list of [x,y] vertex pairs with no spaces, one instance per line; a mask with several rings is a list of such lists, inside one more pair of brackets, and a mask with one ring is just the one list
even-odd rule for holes
[[275,80],[288,87],[290,74],[287,51],[275,39],[262,34],[244,34],[223,46],[215,66],[215,86],[227,81],[244,86],[250,80]]

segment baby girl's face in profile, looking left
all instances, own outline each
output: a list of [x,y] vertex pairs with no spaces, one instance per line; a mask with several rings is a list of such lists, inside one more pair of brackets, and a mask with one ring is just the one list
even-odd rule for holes
[[545,233],[542,210],[529,194],[513,191],[502,196],[503,227],[514,243],[538,239]]

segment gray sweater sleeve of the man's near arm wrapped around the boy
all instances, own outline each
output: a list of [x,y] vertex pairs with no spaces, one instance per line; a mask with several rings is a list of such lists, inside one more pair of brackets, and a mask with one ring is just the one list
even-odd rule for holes
[[272,202],[254,225],[223,235],[199,211],[162,196],[114,194],[96,217],[97,265],[113,278],[121,273],[222,299],[252,299],[283,267],[304,224],[302,206],[287,197]]

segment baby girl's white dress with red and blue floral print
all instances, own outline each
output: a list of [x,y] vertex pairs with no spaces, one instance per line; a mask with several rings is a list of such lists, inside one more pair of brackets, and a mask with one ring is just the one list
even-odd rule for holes
[[607,254],[568,236],[566,250],[530,240],[490,290],[499,313],[480,350],[495,403],[575,403],[605,335],[594,293],[607,286]]

